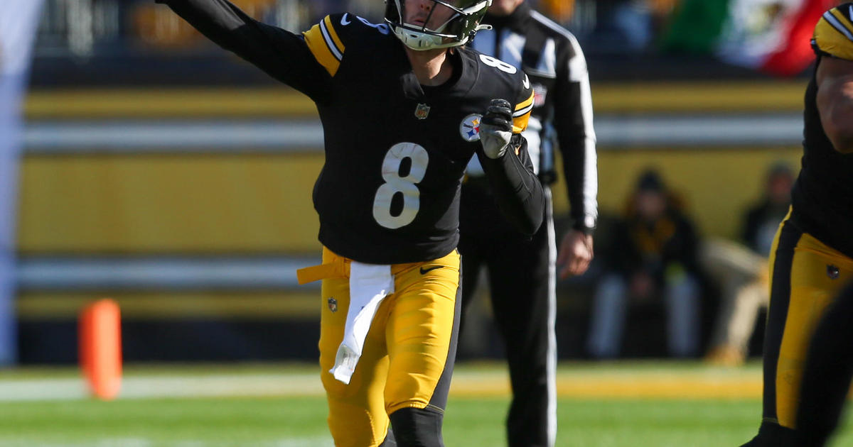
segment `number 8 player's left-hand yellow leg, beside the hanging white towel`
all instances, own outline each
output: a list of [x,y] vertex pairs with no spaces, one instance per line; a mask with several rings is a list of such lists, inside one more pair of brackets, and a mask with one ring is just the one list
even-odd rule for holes
[[[323,263],[334,261],[328,250]],[[379,445],[388,432],[383,389],[388,370],[385,341],[385,315],[391,301],[383,301],[364,341],[362,357],[347,385],[328,371],[334,366],[340,342],[344,338],[346,312],[350,304],[349,278],[322,281],[320,318],[320,376],[328,400],[328,427],[337,447]],[[392,444],[385,444],[386,446]]]

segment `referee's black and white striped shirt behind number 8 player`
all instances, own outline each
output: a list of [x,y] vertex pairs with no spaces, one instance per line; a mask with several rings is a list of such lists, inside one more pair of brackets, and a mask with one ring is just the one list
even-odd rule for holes
[[597,156],[589,72],[577,39],[526,2],[506,17],[486,14],[483,22],[494,29],[478,32],[471,46],[524,70],[536,92],[524,136],[537,174],[543,183],[555,180],[559,147],[574,227],[591,230],[598,218]]

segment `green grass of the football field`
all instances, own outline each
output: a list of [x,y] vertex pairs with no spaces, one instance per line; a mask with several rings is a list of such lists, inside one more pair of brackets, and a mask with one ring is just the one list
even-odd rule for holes
[[[665,365],[665,364],[664,364]],[[260,374],[224,367],[235,381],[269,379],[273,368]],[[479,375],[480,368],[463,368]],[[251,369],[250,369],[251,370]],[[309,368],[310,370],[310,368]],[[492,372],[497,369],[491,369]],[[650,374],[647,365],[572,365],[563,375],[590,371]],[[673,370],[680,370],[676,367]],[[686,373],[700,366],[682,368]],[[161,376],[169,368],[148,369],[131,375]],[[184,378],[203,377],[194,368],[175,369]],[[306,370],[296,368],[303,377]],[[714,370],[708,374],[713,374]],[[726,373],[721,372],[722,375]],[[13,379],[67,380],[73,371],[24,371],[0,375],[0,383]],[[281,380],[287,380],[281,374]],[[275,378],[274,378],[275,379]],[[275,379],[278,380],[278,379]],[[152,382],[156,385],[156,381]],[[154,391],[154,390],[152,390]],[[0,446],[79,447],[320,447],[332,445],[326,427],[322,395],[270,397],[120,398],[113,402],[67,398],[0,402]],[[249,393],[251,395],[251,393]],[[0,396],[2,399],[3,396]],[[451,394],[445,415],[444,441],[449,447],[505,445],[502,422],[506,396]],[[558,446],[584,447],[737,447],[755,433],[761,405],[756,398],[722,399],[589,399],[560,398]],[[853,433],[843,433],[834,445],[853,444]]]

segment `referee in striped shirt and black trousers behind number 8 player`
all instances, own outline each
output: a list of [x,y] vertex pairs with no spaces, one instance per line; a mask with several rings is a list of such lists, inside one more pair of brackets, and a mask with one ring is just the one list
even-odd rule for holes
[[565,278],[583,273],[593,256],[598,182],[589,75],[575,37],[524,0],[494,0],[483,21],[494,30],[480,32],[471,46],[524,70],[536,92],[524,135],[544,185],[555,180],[554,143],[559,141],[573,227],[562,240],[558,260],[548,187],[545,223],[530,238],[501,218],[483,170],[473,160],[462,184],[459,250],[467,285],[462,309],[464,315],[480,267],[486,266],[513,387],[508,445],[546,447],[554,445],[556,434],[555,261]]

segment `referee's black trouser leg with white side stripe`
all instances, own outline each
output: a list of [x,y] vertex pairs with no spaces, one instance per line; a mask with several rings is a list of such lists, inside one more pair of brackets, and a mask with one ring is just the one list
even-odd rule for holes
[[554,445],[554,247],[554,220],[548,207],[546,220],[533,238],[509,233],[488,262],[492,309],[506,347],[513,389],[507,416],[509,447]]

